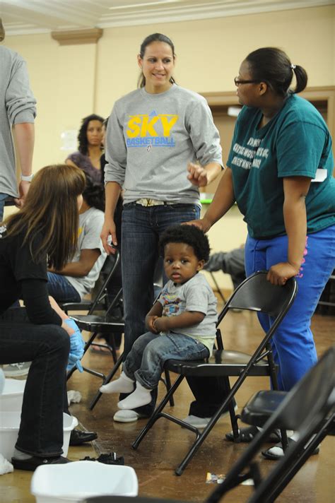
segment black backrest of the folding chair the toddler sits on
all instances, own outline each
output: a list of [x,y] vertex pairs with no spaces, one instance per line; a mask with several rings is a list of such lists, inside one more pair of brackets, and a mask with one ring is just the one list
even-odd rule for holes
[[298,286],[295,278],[290,278],[283,286],[272,285],[266,280],[267,271],[258,271],[245,279],[223,307],[218,316],[218,324],[228,309],[248,309],[278,316],[293,303]]

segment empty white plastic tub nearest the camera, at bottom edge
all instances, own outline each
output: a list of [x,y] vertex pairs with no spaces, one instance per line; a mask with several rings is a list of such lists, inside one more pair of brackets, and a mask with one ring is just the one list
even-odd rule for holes
[[80,503],[93,496],[137,496],[139,483],[131,466],[74,461],[39,466],[30,492],[37,503]]

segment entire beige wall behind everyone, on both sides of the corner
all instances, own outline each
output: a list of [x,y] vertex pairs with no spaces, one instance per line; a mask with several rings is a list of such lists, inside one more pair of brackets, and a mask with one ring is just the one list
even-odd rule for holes
[[[324,6],[108,28],[97,45],[59,46],[49,34],[7,36],[5,45],[28,61],[37,97],[34,170],[64,160],[62,131],[78,129],[81,118],[92,112],[106,117],[118,97],[136,88],[136,54],[151,32],[166,33],[174,41],[177,82],[209,93],[233,90],[242,59],[266,45],[281,47],[293,63],[304,66],[310,86],[334,85],[334,23],[335,6]],[[216,225],[210,237],[214,250],[238,246],[245,237],[245,225],[237,211]],[[229,280],[225,285],[230,285]]]

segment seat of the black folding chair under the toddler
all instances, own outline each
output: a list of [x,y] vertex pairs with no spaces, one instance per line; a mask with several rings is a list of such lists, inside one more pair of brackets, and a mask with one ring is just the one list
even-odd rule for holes
[[[184,376],[239,376],[249,363],[251,355],[240,351],[214,350],[207,360],[167,360],[165,369]],[[260,360],[250,371],[251,376],[268,376],[267,360]]]

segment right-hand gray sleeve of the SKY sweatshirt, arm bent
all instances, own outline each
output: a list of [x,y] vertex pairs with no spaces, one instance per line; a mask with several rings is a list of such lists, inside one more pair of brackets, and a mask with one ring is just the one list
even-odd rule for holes
[[211,109],[205,99],[192,105],[187,128],[197,160],[202,166],[209,162],[218,162],[223,166],[220,136],[213,122]]

